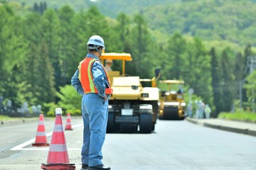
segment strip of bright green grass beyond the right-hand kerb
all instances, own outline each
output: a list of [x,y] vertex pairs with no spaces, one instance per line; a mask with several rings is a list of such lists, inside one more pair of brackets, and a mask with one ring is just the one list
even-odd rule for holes
[[218,115],[218,118],[256,123],[256,113],[251,113],[251,112],[234,112],[234,113],[221,112]]

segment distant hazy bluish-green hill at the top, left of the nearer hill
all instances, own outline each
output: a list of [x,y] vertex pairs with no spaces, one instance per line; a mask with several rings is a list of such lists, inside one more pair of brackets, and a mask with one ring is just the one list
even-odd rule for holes
[[100,11],[105,16],[110,16],[115,18],[118,13],[134,13],[139,10],[142,10],[146,7],[156,6],[156,5],[166,5],[166,4],[173,4],[175,2],[179,2],[181,0],[8,0],[8,1],[15,1],[19,4],[23,4],[23,6],[32,7],[33,4],[36,2],[40,4],[41,2],[46,2],[48,8],[61,8],[62,6],[69,5],[75,11],[87,10],[90,6],[97,6]]

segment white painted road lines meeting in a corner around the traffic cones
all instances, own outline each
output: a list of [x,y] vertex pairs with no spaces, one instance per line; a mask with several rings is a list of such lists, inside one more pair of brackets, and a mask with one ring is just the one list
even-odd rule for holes
[[[78,125],[73,125],[72,128],[79,128],[83,126],[83,124],[78,124]],[[53,132],[48,132],[46,133],[46,137],[49,137],[53,135]],[[49,148],[47,147],[33,147],[33,148],[23,148],[26,147],[27,145],[31,145],[33,142],[35,142],[36,138],[33,138],[32,140],[28,140],[27,142],[23,142],[20,145],[17,145],[16,147],[11,148],[10,150],[48,150]],[[68,150],[80,150],[81,148],[69,148]]]

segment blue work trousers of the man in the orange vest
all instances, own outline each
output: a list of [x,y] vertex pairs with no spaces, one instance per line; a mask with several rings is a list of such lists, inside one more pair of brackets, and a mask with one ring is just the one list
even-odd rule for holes
[[102,164],[102,145],[107,129],[108,100],[98,94],[82,96],[82,119],[84,123],[82,164]]

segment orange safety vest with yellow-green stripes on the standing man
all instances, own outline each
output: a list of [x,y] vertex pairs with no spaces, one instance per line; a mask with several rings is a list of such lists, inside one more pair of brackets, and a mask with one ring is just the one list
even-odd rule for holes
[[[92,64],[97,61],[97,59],[95,58],[91,58],[91,57],[85,57],[84,60],[82,60],[82,62],[80,62],[78,69],[79,69],[79,76],[78,78],[80,79],[80,82],[82,84],[82,89],[84,89],[84,93],[85,94],[89,94],[89,93],[95,93],[97,94],[97,89],[95,87],[95,84],[93,83],[93,76],[92,76]],[[98,60],[99,61],[99,60]],[[107,71],[105,69],[105,67],[102,68],[104,69],[104,72],[107,76],[107,82],[110,86],[110,79],[108,77]],[[110,88],[106,88],[105,89],[105,94],[112,94],[113,90]]]

